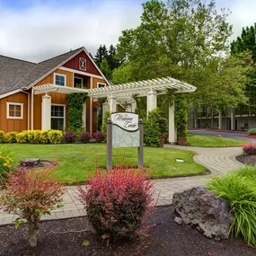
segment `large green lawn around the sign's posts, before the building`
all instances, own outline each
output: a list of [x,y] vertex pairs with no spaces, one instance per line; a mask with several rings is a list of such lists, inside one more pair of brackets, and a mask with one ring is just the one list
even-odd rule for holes
[[[32,157],[57,160],[57,179],[67,184],[86,181],[88,173],[94,172],[96,161],[98,166],[106,166],[104,144],[3,146],[10,150],[16,164],[23,158]],[[154,178],[198,175],[206,172],[205,167],[193,162],[193,154],[191,151],[173,148],[145,147],[145,165],[152,169]],[[137,165],[137,148],[113,150],[113,163],[122,163],[124,157],[129,165]],[[185,162],[178,163],[175,161],[176,158],[181,158]]]

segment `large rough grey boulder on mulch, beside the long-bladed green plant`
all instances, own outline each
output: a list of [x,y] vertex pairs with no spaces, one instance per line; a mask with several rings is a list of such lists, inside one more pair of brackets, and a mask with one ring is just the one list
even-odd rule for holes
[[184,224],[191,225],[216,241],[228,238],[233,220],[230,208],[206,188],[197,187],[174,193],[172,204]]

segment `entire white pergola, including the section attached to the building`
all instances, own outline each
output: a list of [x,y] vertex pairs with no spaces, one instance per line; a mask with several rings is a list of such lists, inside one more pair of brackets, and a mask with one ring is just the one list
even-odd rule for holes
[[[42,97],[42,128],[50,127],[50,106],[51,97],[48,93],[88,93],[89,97],[94,99],[107,98],[103,103],[103,115],[106,110],[110,112],[117,111],[117,104],[125,105],[126,111],[134,112],[137,108],[137,102],[134,96],[146,96],[147,113],[157,107],[157,95],[165,94],[167,89],[173,90],[173,93],[192,93],[197,87],[183,83],[172,77],[163,77],[158,79],[138,81],[134,83],[117,84],[94,89],[79,89],[74,87],[59,86],[56,84],[42,84],[33,87],[34,94],[45,93]],[[85,108],[85,104],[84,104]],[[174,126],[174,103],[169,106],[169,142],[175,143],[177,140]],[[84,113],[86,110],[84,110]],[[92,122],[92,121],[91,121]],[[92,127],[92,124],[90,124]]]

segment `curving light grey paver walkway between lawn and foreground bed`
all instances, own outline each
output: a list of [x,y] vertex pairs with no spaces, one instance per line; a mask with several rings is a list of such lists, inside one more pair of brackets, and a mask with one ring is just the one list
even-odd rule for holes
[[[193,157],[194,161],[207,167],[211,174],[155,180],[155,197],[158,197],[159,206],[171,204],[172,196],[175,192],[204,185],[212,175],[224,174],[243,166],[243,163],[239,163],[235,160],[235,156],[241,154],[241,147],[203,148],[169,145],[166,145],[166,147],[196,152],[197,154]],[[86,215],[84,206],[77,199],[77,189],[75,186],[66,187],[63,204],[64,207],[53,211],[51,216],[43,216],[42,219],[50,220]],[[14,215],[6,214],[0,209],[0,225],[11,224],[14,217]]]

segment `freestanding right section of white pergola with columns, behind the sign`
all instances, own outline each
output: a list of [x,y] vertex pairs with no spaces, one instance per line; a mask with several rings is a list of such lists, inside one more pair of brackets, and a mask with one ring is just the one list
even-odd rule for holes
[[[172,77],[163,77],[158,79],[144,80],[134,83],[110,85],[102,88],[88,90],[88,96],[93,98],[107,97],[108,102],[103,106],[104,111],[109,108],[110,112],[117,111],[117,104],[126,104],[126,110],[134,112],[137,108],[134,95],[137,97],[146,96],[147,113],[157,107],[157,95],[165,94],[167,89],[174,93],[192,93],[197,87],[183,83]],[[169,142],[177,141],[176,130],[174,126],[174,103],[169,106]]]

